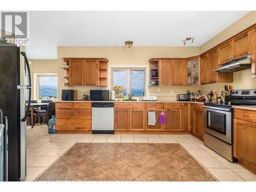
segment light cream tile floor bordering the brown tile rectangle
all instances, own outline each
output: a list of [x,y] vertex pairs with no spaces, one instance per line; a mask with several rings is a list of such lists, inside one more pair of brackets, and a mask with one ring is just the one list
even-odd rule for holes
[[[256,181],[256,176],[237,163],[230,163],[192,135],[91,135],[54,134],[47,126],[27,130],[27,178],[33,181],[76,142],[84,143],[180,143],[220,181]],[[142,154],[143,151],[137,152]],[[155,159],[155,163],[158,160]],[[146,176],[141,176],[146,177]]]

